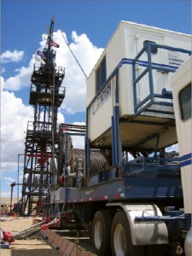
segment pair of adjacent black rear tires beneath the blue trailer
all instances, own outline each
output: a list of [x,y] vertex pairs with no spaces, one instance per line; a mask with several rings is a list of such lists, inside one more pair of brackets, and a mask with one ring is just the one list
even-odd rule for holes
[[107,210],[98,211],[92,224],[92,241],[98,256],[163,256],[164,246],[135,246],[125,212],[112,218]]

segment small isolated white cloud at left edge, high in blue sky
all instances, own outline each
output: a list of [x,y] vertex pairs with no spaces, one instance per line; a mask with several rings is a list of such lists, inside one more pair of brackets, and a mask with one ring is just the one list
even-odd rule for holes
[[2,63],[8,63],[8,62],[18,62],[23,58],[24,51],[23,50],[6,50],[1,55],[1,62]]

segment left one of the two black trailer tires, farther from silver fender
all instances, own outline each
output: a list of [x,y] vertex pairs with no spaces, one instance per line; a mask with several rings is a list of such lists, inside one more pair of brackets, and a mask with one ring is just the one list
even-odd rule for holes
[[106,210],[95,214],[92,224],[92,241],[96,255],[111,255],[111,224],[112,217]]

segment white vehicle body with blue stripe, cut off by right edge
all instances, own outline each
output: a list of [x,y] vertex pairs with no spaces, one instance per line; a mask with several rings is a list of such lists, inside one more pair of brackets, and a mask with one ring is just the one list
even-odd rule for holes
[[[177,128],[179,156],[181,160],[181,177],[183,187],[184,212],[192,214],[192,126],[191,126],[191,82],[192,56],[178,68],[172,77],[173,106]],[[185,239],[185,255],[192,255],[191,228]]]

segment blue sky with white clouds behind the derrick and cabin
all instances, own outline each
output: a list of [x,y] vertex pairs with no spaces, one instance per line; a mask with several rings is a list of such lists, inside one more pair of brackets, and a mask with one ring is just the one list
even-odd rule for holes
[[[61,30],[89,74],[120,20],[191,33],[191,1],[1,1],[1,171],[2,196],[9,196],[17,180],[17,155],[24,151],[32,60],[43,49],[43,34],[55,18],[55,38],[61,47],[59,66],[66,67],[67,95],[59,119],[85,120],[85,79],[61,38]],[[75,74],[75,75],[74,75]],[[20,181],[22,157],[20,156]],[[16,189],[15,189],[16,190]],[[15,192],[16,195],[16,192]]]

